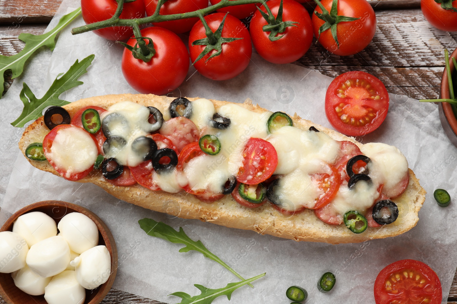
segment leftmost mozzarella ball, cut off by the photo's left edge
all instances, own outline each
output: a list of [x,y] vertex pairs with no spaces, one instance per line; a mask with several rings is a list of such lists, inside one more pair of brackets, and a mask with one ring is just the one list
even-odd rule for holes
[[27,242],[11,231],[0,232],[0,273],[12,273],[26,266]]

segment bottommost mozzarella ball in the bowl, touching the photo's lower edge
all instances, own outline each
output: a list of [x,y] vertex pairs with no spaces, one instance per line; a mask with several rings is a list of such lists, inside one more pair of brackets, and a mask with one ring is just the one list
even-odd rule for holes
[[44,299],[48,304],[83,304],[85,289],[76,281],[74,271],[65,270],[46,286]]

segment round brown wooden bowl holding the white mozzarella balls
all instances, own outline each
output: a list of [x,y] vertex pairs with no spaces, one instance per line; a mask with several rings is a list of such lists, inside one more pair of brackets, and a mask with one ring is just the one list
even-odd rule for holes
[[[98,244],[105,245],[111,255],[111,275],[108,278],[108,281],[100,285],[98,288],[93,290],[86,289],[86,299],[84,304],[100,303],[110,291],[117,273],[117,248],[108,227],[106,227],[105,223],[102,222],[98,216],[84,207],[67,203],[65,201],[39,201],[32,205],[28,205],[13,214],[1,227],[0,231],[12,231],[13,223],[16,219],[22,214],[32,211],[41,211],[46,213],[48,216],[51,216],[57,224],[60,222],[62,217],[71,212],[80,212],[95,222],[99,231]],[[9,304],[47,304],[43,295],[32,296],[24,293],[21,289],[18,289],[13,282],[13,278],[11,278],[11,273],[0,273],[0,294]]]

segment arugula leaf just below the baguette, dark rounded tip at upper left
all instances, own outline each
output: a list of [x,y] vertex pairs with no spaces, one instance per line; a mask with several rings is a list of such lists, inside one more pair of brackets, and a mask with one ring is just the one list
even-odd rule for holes
[[[182,227],[179,227],[179,232],[177,232],[175,229],[168,226],[167,224],[163,222],[156,222],[150,218],[143,218],[142,220],[138,221],[138,224],[140,224],[141,229],[143,229],[151,237],[159,237],[175,244],[186,245],[185,247],[182,247],[179,250],[179,252],[189,252],[191,250],[198,251],[202,253],[203,256],[210,258],[213,261],[216,261],[219,264],[221,264],[223,267],[227,268],[228,271],[236,275],[241,280],[244,280],[242,276],[236,273],[232,268],[230,268],[226,263],[224,263],[220,258],[215,256],[212,252],[210,252],[200,240],[196,242],[192,240],[190,237],[188,237],[182,229]],[[249,286],[254,287],[252,286],[252,284],[249,284]]]

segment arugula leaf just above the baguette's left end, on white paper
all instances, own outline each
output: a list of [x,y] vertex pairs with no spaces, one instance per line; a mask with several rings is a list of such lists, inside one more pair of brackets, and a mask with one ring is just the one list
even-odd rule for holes
[[24,82],[21,93],[19,94],[22,103],[24,103],[24,108],[22,109],[21,116],[11,123],[13,127],[22,128],[27,122],[39,118],[42,115],[43,109],[48,106],[63,106],[64,104],[68,104],[68,101],[59,99],[58,97],[66,90],[83,84],[78,78],[87,72],[86,69],[90,66],[94,58],[95,55],[92,54],[85,57],[81,62],[76,59],[74,64],[62,77],[59,78],[61,74],[57,76],[48,89],[48,92],[40,99],[35,97],[35,94],[32,93],[32,90]]

